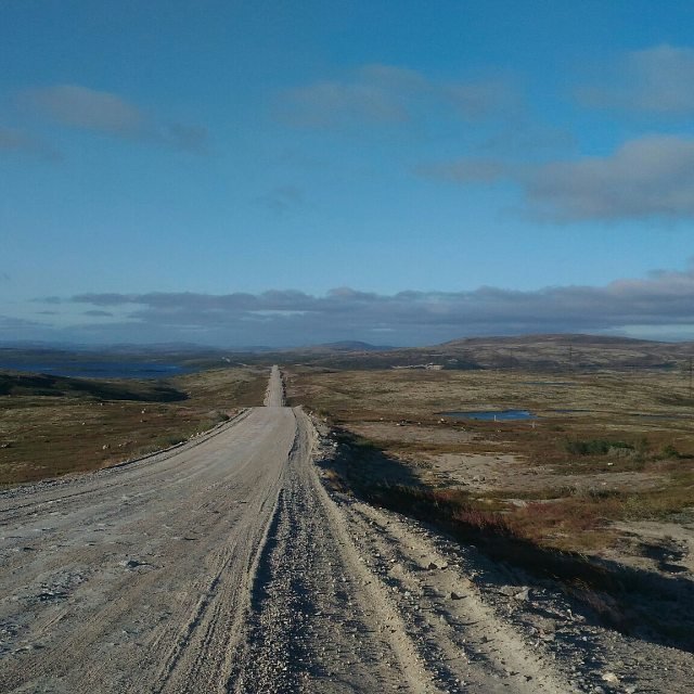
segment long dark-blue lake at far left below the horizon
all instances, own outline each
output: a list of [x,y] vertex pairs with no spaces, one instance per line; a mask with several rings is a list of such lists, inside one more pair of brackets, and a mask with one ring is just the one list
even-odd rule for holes
[[0,370],[48,373],[54,376],[78,378],[166,378],[190,373],[192,369],[178,364],[164,364],[153,361],[65,361],[65,362],[23,362],[8,359],[0,361]]

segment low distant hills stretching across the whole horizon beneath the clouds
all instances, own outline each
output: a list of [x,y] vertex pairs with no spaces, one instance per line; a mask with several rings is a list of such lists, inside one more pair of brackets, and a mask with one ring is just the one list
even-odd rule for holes
[[[694,359],[694,342],[665,343],[612,335],[541,334],[499,337],[465,337],[428,347],[396,348],[360,340],[340,340],[292,349],[246,347],[219,349],[162,345],[123,346],[86,354],[82,350],[0,347],[5,369],[21,368],[30,358],[34,363],[93,360],[111,355],[126,361],[138,357],[147,361],[176,363],[192,368],[233,364],[295,363],[335,369],[440,368],[535,369],[545,371],[594,369],[673,369],[689,368]],[[12,362],[12,363],[11,363]],[[17,365],[14,365],[17,364]]]

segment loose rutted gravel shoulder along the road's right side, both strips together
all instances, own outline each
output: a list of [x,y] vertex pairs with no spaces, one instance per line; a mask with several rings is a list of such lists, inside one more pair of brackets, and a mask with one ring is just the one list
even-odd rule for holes
[[573,691],[404,524],[331,498],[306,454],[316,430],[295,415],[301,442],[260,556],[231,692]]

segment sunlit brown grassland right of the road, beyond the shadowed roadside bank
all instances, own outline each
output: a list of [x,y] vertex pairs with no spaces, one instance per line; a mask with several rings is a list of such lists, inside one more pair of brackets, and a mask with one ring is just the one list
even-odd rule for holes
[[[617,538],[612,520],[667,519],[694,509],[694,420],[680,372],[305,368],[290,374],[287,394],[408,466],[420,487],[414,493],[425,489],[433,506],[538,545],[600,552]],[[540,419],[441,422],[439,414],[485,409],[527,409]],[[502,454],[518,462],[492,483],[465,479],[466,459]],[[451,457],[460,459],[460,474],[432,474]]]

